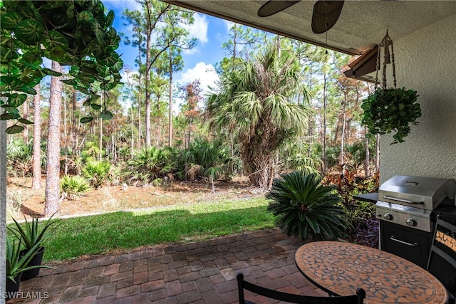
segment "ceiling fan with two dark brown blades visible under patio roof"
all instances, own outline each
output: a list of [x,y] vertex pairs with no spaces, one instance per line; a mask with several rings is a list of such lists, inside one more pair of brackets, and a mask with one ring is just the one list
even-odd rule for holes
[[[299,1],[301,0],[269,0],[259,8],[258,16],[267,17],[274,15]],[[312,31],[314,33],[324,33],[332,28],[339,16],[341,16],[342,6],[343,1],[316,1],[314,11],[312,12]]]

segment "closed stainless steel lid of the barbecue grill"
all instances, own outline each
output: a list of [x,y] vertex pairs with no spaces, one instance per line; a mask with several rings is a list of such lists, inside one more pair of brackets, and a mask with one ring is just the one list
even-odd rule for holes
[[380,186],[378,199],[434,210],[445,198],[454,199],[455,192],[455,179],[396,175]]

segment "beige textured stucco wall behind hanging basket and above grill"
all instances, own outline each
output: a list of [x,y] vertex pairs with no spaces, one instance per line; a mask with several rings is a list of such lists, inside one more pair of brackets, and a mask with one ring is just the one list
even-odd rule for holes
[[453,15],[397,41],[390,32],[398,87],[418,92],[422,116],[405,142],[380,137],[380,183],[394,175],[456,179],[455,25]]

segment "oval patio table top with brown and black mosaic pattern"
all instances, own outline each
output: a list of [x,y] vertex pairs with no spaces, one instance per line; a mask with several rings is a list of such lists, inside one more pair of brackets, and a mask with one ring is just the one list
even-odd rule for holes
[[448,303],[445,286],[420,266],[386,251],[341,241],[299,247],[296,266],[331,295],[366,290],[364,303]]

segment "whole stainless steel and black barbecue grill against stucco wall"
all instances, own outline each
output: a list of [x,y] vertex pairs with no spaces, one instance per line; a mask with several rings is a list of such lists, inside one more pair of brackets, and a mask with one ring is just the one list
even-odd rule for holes
[[[455,179],[395,176],[378,189],[380,249],[425,268],[436,214],[456,221]],[[453,278],[448,273],[446,278]]]

